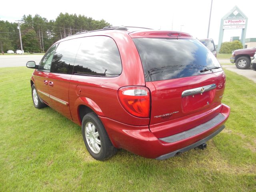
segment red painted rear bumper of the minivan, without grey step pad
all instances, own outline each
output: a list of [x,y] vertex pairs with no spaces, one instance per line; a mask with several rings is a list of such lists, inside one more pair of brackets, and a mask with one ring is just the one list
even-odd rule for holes
[[195,127],[195,132],[192,131],[189,134],[183,132],[187,136],[180,137],[178,140],[166,140],[167,142],[163,138],[156,138],[148,126],[130,126],[105,117],[100,117],[100,119],[115,147],[124,148],[146,158],[163,160],[174,156],[177,152],[185,152],[199,146],[223,130],[224,123],[230,114],[230,108],[224,104],[221,105],[220,115],[223,116],[221,120],[212,122],[210,120],[212,126],[206,122],[208,127],[197,126],[200,128]]

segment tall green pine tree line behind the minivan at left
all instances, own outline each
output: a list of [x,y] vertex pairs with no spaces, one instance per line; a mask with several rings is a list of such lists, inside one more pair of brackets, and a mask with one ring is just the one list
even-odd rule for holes
[[[56,41],[77,32],[102,29],[110,24],[84,15],[60,13],[56,20],[48,21],[36,14],[24,15],[20,20],[20,32],[24,52],[45,52]],[[18,22],[0,20],[0,51],[19,50]]]

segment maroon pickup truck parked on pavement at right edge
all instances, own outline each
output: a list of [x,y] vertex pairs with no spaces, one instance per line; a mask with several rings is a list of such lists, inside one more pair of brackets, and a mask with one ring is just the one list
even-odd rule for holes
[[247,69],[250,67],[251,60],[256,52],[256,47],[248,49],[238,49],[232,52],[231,63],[236,63],[236,68]]

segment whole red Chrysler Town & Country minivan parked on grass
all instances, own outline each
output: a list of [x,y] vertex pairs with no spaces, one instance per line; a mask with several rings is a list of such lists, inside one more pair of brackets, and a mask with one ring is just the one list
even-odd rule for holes
[[123,148],[163,160],[224,129],[225,74],[214,55],[183,32],[118,27],[59,40],[34,68],[36,108],[82,126],[97,160]]

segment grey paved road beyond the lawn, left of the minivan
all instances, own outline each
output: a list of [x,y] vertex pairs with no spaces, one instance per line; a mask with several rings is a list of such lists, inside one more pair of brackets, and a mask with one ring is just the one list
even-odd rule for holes
[[26,66],[28,61],[35,61],[39,64],[43,55],[0,55],[0,67]]

